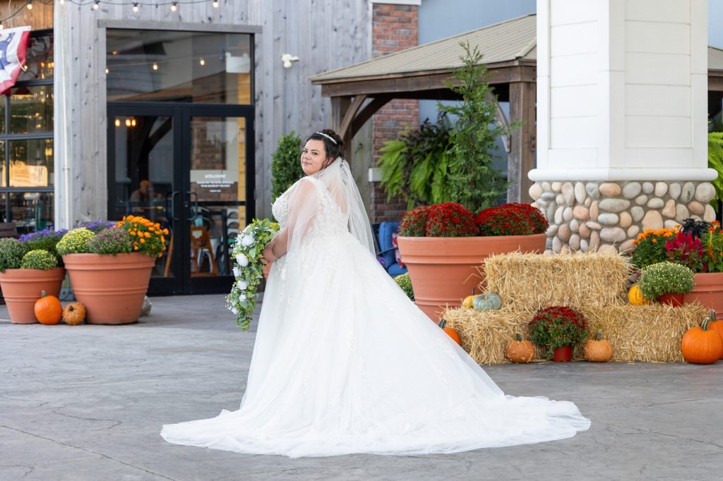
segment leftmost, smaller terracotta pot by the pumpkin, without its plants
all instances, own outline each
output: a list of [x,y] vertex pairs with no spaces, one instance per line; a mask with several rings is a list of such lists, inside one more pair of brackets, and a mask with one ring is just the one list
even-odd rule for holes
[[0,287],[7,303],[10,321],[14,324],[35,324],[35,301],[43,290],[58,296],[65,279],[65,269],[5,269],[0,273]]

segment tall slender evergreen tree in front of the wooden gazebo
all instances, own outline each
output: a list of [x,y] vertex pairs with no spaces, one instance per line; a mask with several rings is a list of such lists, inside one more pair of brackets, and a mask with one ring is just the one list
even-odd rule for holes
[[[452,133],[453,150],[449,160],[448,196],[473,212],[497,204],[507,191],[508,182],[495,169],[497,138],[508,134],[495,123],[497,107],[488,100],[495,97],[489,87],[491,74],[480,64],[482,53],[461,43],[464,65],[455,71],[448,87],[463,98],[458,105],[439,104],[437,108],[457,117]],[[514,125],[512,127],[515,127]]]

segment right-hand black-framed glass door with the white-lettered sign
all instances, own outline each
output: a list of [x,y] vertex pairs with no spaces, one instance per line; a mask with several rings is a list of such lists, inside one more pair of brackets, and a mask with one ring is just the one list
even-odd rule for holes
[[254,212],[253,108],[194,105],[187,111],[189,290],[225,292],[233,282],[231,242]]

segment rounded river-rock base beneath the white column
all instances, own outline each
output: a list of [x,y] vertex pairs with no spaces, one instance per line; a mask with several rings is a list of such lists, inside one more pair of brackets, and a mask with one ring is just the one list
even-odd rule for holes
[[628,252],[638,233],[688,217],[715,220],[715,188],[701,181],[536,182],[529,194],[549,222],[547,248]]

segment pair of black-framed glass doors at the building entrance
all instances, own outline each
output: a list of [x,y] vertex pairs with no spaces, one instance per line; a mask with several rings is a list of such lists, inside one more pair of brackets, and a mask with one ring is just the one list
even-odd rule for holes
[[253,108],[109,103],[108,122],[108,219],[170,233],[149,294],[228,291],[231,242],[254,212]]

